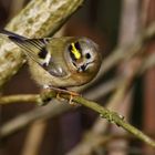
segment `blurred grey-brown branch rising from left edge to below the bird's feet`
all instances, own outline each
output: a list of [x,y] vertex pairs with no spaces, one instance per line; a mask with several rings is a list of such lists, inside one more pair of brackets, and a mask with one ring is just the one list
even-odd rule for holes
[[37,120],[48,120],[51,117],[55,117],[62,113],[69,112],[70,110],[71,105],[52,100],[50,104],[42,107],[37,107],[30,112],[27,112],[25,114],[21,114],[20,116],[17,116],[16,118],[1,125],[0,138],[13,134],[14,132],[28,126]]

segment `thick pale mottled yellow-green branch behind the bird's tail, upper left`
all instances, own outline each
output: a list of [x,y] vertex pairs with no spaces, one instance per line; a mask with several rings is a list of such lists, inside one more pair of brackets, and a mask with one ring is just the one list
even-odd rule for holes
[[[83,0],[32,0],[6,29],[30,38],[54,34]],[[0,39],[0,86],[14,75],[24,59],[20,49]]]

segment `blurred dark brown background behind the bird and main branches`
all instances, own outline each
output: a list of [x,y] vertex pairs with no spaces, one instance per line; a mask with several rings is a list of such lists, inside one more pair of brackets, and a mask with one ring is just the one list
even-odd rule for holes
[[[0,29],[2,29],[29,0],[0,0]],[[63,27],[63,35],[85,35],[100,44],[103,62],[116,48],[126,48],[152,22],[155,22],[154,0],[86,0]],[[127,48],[126,48],[127,49]],[[154,137],[155,131],[155,69],[131,80],[137,64],[155,52],[154,39],[142,49],[141,54],[118,61],[97,82],[101,95],[95,100],[118,112],[131,124]],[[124,52],[131,52],[124,50]],[[125,55],[125,53],[124,53]],[[130,83],[124,94],[115,100],[124,79]],[[122,83],[121,83],[122,82]],[[107,86],[107,87],[106,87]],[[92,91],[93,86],[86,92]],[[33,94],[40,87],[31,80],[25,64],[3,87],[2,93]],[[102,94],[103,92],[103,94]],[[86,94],[84,92],[84,94]],[[87,99],[90,99],[87,93]],[[115,102],[114,102],[115,101]],[[107,105],[110,104],[110,105]],[[0,106],[0,127],[13,118],[27,114],[37,106],[12,104]],[[0,155],[154,155],[155,151],[128,135],[116,125],[99,118],[86,107],[72,107],[48,120],[33,121],[16,133],[0,140]]]

